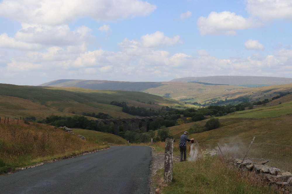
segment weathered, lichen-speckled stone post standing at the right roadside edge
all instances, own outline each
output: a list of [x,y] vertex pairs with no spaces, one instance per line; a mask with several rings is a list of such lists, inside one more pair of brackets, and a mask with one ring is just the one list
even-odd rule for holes
[[164,183],[172,182],[172,167],[173,167],[173,140],[165,139],[164,153]]

